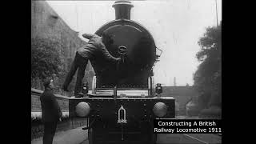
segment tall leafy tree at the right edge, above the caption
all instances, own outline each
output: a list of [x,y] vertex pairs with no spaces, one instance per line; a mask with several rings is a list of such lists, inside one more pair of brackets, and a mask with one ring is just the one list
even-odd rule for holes
[[206,28],[199,39],[201,50],[196,57],[201,62],[194,73],[194,86],[202,92],[199,103],[202,107],[221,106],[222,86],[222,27]]

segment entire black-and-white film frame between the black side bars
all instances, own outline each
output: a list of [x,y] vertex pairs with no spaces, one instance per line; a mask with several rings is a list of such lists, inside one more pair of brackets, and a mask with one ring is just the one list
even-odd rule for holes
[[31,0],[31,144],[220,144],[222,105],[222,0]]

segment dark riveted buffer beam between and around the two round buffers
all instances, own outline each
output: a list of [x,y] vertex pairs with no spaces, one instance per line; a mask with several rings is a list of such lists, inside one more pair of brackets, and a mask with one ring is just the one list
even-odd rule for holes
[[168,107],[164,118],[175,118],[174,98],[73,98],[70,99],[70,117],[75,117],[75,106],[79,102],[88,102],[90,105],[89,118],[98,118],[106,121],[118,121],[118,109],[122,105],[126,109],[127,121],[148,120],[156,118],[153,108],[157,102],[164,102]]

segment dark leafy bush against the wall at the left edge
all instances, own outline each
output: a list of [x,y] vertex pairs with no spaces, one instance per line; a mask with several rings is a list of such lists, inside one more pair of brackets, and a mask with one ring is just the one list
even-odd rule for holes
[[46,38],[31,39],[31,77],[46,78],[62,71],[58,42]]

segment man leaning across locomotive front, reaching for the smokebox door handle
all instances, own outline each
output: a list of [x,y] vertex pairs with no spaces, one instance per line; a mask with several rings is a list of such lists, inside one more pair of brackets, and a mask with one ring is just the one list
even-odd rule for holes
[[99,54],[109,62],[118,62],[121,59],[114,58],[109,51],[106,50],[106,46],[113,43],[113,39],[111,38],[110,34],[103,32],[102,37],[98,36],[97,34],[82,34],[82,37],[89,39],[89,42],[77,50],[74,61],[72,62],[70,68],[70,72],[66,75],[65,82],[62,86],[64,91],[69,91],[68,86],[70,85],[76,70],[78,70],[77,80],[74,87],[75,97],[82,96],[82,79],[85,75],[88,59],[95,59]]

